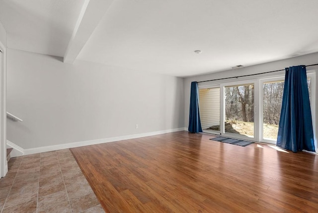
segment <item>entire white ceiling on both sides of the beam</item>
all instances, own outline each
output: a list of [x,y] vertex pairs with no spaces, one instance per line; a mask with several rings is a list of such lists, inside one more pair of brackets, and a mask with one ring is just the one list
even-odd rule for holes
[[[86,12],[81,32],[74,31],[83,4],[0,0],[7,47],[64,57],[74,35],[93,19]],[[104,14],[77,46],[77,59],[185,77],[318,52],[318,0],[114,0],[109,5],[91,7]]]

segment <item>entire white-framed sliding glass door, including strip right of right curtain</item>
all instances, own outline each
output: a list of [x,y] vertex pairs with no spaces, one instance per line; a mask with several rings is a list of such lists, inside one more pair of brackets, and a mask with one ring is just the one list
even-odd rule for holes
[[[308,73],[307,77],[315,121],[316,74]],[[204,87],[199,85],[199,89],[203,132],[276,144],[284,76]],[[316,125],[314,122],[314,129]]]

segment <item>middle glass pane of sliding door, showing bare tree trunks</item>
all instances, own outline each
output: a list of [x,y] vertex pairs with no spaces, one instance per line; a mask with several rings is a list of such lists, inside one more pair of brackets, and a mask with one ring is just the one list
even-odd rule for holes
[[254,137],[254,84],[225,87],[225,132]]

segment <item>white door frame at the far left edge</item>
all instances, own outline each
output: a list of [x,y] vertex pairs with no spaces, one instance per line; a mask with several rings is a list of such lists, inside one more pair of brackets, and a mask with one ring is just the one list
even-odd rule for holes
[[6,161],[6,49],[0,42],[0,178],[8,171]]

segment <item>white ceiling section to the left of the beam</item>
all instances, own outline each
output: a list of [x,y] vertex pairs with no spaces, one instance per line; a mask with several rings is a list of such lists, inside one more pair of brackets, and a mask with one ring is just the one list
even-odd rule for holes
[[7,47],[63,56],[84,0],[0,0]]

